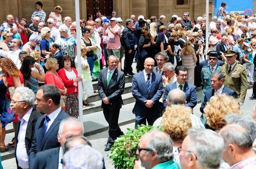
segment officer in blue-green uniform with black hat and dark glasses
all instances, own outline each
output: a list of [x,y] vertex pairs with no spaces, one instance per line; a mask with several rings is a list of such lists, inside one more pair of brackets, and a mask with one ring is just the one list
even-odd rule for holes
[[221,55],[221,53],[219,53],[217,51],[210,51],[210,52],[208,52],[207,55],[209,56],[209,58],[208,58],[209,65],[206,67],[203,67],[202,71],[201,71],[201,79],[202,79],[202,82],[204,85],[201,103],[204,101],[204,94],[205,94],[206,90],[211,88],[212,72],[220,71],[220,68],[221,68],[219,65],[217,65],[217,61],[218,61],[217,56]]

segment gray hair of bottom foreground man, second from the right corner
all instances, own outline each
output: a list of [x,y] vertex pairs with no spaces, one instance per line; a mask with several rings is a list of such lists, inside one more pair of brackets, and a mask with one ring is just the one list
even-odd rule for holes
[[217,168],[221,164],[224,141],[210,129],[189,129],[188,149],[197,156],[199,165]]

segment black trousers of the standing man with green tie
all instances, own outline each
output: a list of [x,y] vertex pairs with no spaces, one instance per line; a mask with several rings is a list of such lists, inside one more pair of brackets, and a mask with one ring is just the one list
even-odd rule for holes
[[120,108],[113,110],[107,107],[103,108],[104,117],[109,123],[109,138],[107,140],[107,144],[114,144],[114,140],[123,135],[123,132],[118,125],[119,113]]

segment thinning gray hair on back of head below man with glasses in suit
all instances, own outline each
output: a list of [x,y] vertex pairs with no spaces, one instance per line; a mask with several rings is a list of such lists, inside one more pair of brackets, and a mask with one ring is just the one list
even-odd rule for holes
[[168,93],[168,104],[184,104],[186,101],[185,93],[180,89],[173,89]]

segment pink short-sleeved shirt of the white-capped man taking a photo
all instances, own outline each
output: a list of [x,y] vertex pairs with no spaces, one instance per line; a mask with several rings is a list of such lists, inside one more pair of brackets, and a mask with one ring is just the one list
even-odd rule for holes
[[111,27],[113,31],[116,31],[117,34],[112,34],[109,29],[106,29],[106,34],[108,36],[107,38],[107,49],[120,49],[121,43],[120,43],[120,36],[121,33],[121,27],[118,25],[115,25],[114,27]]

